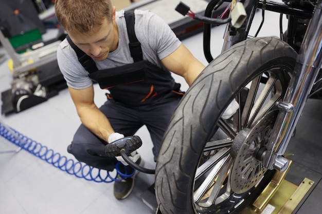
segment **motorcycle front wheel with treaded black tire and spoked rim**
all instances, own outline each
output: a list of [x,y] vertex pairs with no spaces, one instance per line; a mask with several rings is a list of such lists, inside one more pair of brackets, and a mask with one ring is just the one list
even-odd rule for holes
[[[273,104],[283,99],[296,56],[297,53],[287,43],[276,38],[252,38],[220,54],[198,76],[175,110],[159,152],[155,192],[163,214],[234,213],[258,196],[274,172],[266,172],[261,166],[258,160],[260,151],[265,148],[267,136],[271,134],[276,119],[277,110],[274,110]],[[241,121],[243,112],[251,112],[256,106],[254,102],[247,103],[252,100],[247,94],[252,94],[253,90],[246,87],[251,81],[254,85],[259,84],[254,94],[264,91],[261,85],[272,87],[267,91],[265,103],[260,105],[259,109],[263,111],[255,111],[253,120],[250,117],[244,120],[248,123],[237,123]],[[259,98],[262,95],[264,93]],[[220,119],[232,99],[240,104],[239,110],[229,120]],[[252,136],[244,138],[242,133],[251,133],[249,135]],[[220,141],[221,144],[216,147],[213,144],[216,140],[224,141]],[[242,145],[246,140],[249,141],[248,145]],[[251,144],[257,148],[256,154],[254,152],[251,157],[252,164],[255,164],[251,169],[256,173],[240,179],[238,176],[243,176],[243,172],[238,171],[241,163],[236,160],[246,160],[244,153],[247,152],[244,151],[251,151]],[[217,159],[219,152],[223,155]],[[221,183],[217,188],[218,193],[214,195],[215,198],[221,196],[221,199],[210,200],[210,204],[207,204],[205,200],[209,198],[203,194],[198,194],[203,196],[198,198],[195,194],[199,190],[195,190],[198,187],[202,190],[200,183],[210,178],[210,170],[198,174],[198,178],[196,171],[203,163],[216,164],[212,166],[213,169],[218,166],[218,161],[224,164],[221,173],[215,177]],[[226,169],[229,169],[229,173]],[[220,177],[221,174],[223,177]],[[231,184],[236,191],[229,188]],[[216,182],[212,190],[216,190]]]

